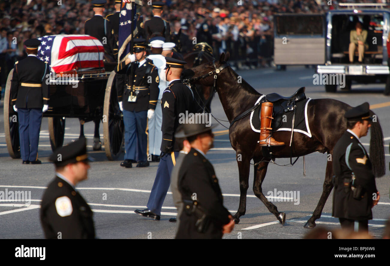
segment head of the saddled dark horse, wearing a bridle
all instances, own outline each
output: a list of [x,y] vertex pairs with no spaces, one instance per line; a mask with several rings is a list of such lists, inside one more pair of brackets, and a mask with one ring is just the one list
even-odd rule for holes
[[181,78],[184,80],[188,79],[193,84],[202,84],[209,87],[213,86],[215,85],[214,76],[217,75],[218,77],[223,74],[223,72],[220,74],[220,71],[223,71],[223,69],[228,66],[227,60],[229,60],[229,57],[229,52],[226,54],[222,53],[218,61],[214,60],[212,62],[207,62],[200,66],[184,70]]

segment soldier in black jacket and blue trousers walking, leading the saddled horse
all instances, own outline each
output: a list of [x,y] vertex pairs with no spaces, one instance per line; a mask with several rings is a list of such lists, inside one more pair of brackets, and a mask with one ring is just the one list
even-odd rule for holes
[[146,205],[147,209],[135,210],[135,213],[144,217],[151,217],[154,220],[160,220],[161,208],[170,184],[170,174],[180,151],[174,137],[174,133],[179,126],[179,117],[185,114],[186,111],[188,113],[195,112],[193,92],[190,87],[183,84],[180,80],[180,74],[186,62],[170,57],[166,57],[165,60],[167,61],[165,79],[169,83],[161,99],[161,108],[163,110],[161,131],[163,140],[160,150],[162,154],[152,191]]

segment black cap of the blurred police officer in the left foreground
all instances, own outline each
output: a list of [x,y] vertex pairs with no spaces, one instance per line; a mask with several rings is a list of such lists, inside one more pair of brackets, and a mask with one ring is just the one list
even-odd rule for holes
[[93,161],[87,154],[86,138],[79,138],[74,142],[58,148],[51,154],[49,160],[57,167],[80,161]]

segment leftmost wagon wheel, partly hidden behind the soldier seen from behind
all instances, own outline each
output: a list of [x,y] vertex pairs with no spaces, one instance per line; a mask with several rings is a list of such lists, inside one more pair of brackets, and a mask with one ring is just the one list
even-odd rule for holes
[[5,142],[11,158],[20,158],[20,143],[19,143],[19,122],[18,113],[14,111],[11,100],[11,80],[14,69],[8,74],[7,83],[5,85],[4,94],[4,133]]

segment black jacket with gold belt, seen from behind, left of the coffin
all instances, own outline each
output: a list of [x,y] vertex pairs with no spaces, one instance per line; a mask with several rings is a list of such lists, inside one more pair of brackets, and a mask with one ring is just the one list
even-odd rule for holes
[[15,63],[11,82],[12,105],[17,108],[42,108],[49,101],[48,64],[35,56]]

